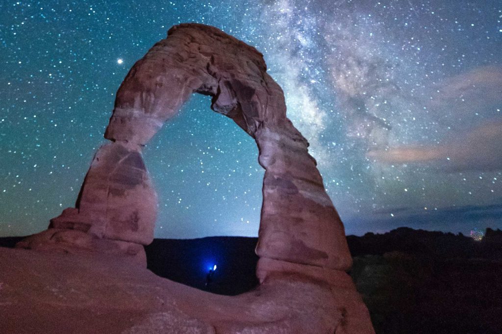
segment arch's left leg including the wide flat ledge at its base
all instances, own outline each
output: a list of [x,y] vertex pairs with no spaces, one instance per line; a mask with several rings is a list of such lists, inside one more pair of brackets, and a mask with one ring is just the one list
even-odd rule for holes
[[157,194],[141,146],[110,142],[101,146],[75,208],[51,219],[49,229],[17,246],[67,253],[122,254],[146,266],[143,245],[154,237]]

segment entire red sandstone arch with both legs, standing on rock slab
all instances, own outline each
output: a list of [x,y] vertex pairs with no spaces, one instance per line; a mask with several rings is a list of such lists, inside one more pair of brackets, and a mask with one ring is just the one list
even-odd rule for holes
[[336,327],[370,332],[367,310],[343,272],[351,266],[343,225],[307,140],[286,117],[282,89],[267,74],[260,52],[209,26],[171,28],[134,65],[116,94],[104,135],[111,142],[94,156],[76,207],[19,246],[72,252],[76,244],[144,262],[141,245],[153,240],[157,196],[142,147],[194,92],[212,96],[211,108],[232,118],[259,147],[265,169],[256,248],[260,281],[296,275],[323,282],[330,286],[337,321],[347,309],[356,319]]

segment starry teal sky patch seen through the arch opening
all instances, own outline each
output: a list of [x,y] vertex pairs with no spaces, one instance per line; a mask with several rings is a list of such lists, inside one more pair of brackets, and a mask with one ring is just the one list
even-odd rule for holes
[[258,148],[210,100],[193,94],[143,149],[159,198],[157,238],[258,236]]

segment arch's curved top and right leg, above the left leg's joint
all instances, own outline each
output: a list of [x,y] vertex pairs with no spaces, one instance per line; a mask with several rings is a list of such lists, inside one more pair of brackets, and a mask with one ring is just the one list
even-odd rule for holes
[[105,137],[144,145],[192,93],[213,96],[211,107],[256,139],[266,170],[258,255],[345,270],[343,225],[266,70],[260,52],[215,28],[176,26],[123,81]]

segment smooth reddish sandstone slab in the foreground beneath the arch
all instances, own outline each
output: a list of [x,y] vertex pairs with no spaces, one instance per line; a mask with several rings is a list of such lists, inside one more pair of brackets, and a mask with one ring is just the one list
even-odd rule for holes
[[[275,274],[222,296],[158,277],[112,255],[0,248],[3,333],[365,333],[352,282]],[[364,319],[364,317],[362,317]]]

